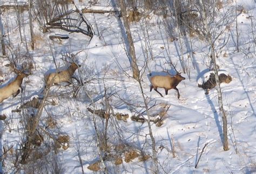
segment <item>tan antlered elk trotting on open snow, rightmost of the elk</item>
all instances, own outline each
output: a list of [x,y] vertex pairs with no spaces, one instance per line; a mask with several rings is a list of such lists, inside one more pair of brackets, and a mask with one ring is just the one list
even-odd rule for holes
[[[161,97],[163,97],[163,95],[160,92],[157,91],[158,87],[159,88],[164,88],[166,95],[168,94],[168,91],[170,89],[175,89],[178,92],[178,99],[179,99],[180,95],[179,95],[179,90],[177,88],[177,85],[179,85],[179,82],[181,82],[182,80],[185,80],[185,78],[183,76],[181,76],[180,75],[181,73],[178,73],[177,70],[176,70],[176,72],[177,72],[177,74],[174,75],[174,76],[170,76],[170,75],[166,75],[166,76],[164,76],[164,75],[152,76],[152,78],[150,79],[150,81],[151,81],[150,92],[154,88],[154,91],[156,91],[158,94],[161,95]],[[150,73],[150,76],[151,75],[152,74]]]

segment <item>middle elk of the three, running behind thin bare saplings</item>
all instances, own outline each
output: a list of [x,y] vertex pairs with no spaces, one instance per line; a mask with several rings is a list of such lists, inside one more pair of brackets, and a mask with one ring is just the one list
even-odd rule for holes
[[60,82],[70,83],[72,75],[75,73],[78,67],[80,67],[80,65],[77,65],[76,63],[72,62],[68,69],[46,75],[46,86],[51,86],[52,84],[57,84]]

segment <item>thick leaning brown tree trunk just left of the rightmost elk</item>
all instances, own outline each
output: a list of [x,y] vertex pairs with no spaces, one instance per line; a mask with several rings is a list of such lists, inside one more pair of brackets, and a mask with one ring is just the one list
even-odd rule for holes
[[132,40],[132,34],[131,34],[131,30],[130,30],[130,24],[129,24],[129,20],[127,18],[126,5],[125,5],[124,0],[120,0],[120,8],[121,8],[122,17],[124,20],[124,27],[125,27],[126,34],[127,34],[127,40],[129,42],[128,43],[129,50],[127,50],[127,52],[129,53],[129,59],[130,59],[131,67],[132,67],[133,78],[136,80],[139,80],[139,68],[137,66],[136,54],[135,54],[134,44],[133,44],[133,40]]

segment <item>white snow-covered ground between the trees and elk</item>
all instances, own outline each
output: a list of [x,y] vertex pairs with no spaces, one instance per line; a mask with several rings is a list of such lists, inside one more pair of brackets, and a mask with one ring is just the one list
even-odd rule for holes
[[[78,1],[75,3],[79,4]],[[107,4],[109,3],[98,3],[93,9],[106,9]],[[252,37],[252,30],[256,36],[256,3],[247,0],[238,1],[238,4],[246,9],[246,13],[241,13],[238,16],[241,51],[237,53],[235,38],[231,38],[219,52],[217,58],[221,72],[232,76],[230,83],[221,83],[224,109],[228,121],[228,151],[223,150],[223,122],[219,116],[217,91],[214,88],[208,95],[205,95],[204,90],[198,88],[198,83],[207,80],[205,78],[210,73],[206,56],[209,53],[207,45],[197,37],[191,38],[193,43],[193,53],[191,53],[185,46],[187,44],[184,44],[186,40],[181,41],[184,59],[190,69],[190,74],[181,73],[186,79],[177,86],[180,99],[177,99],[177,91],[173,89],[169,91],[168,95],[161,98],[155,91],[150,92],[149,73],[169,71],[173,74],[174,69],[170,67],[170,64],[166,64],[170,60],[174,64],[177,63],[176,69],[181,69],[178,41],[172,43],[167,41],[168,36],[161,18],[153,13],[139,23],[131,23],[139,69],[143,69],[142,72],[145,69],[145,72],[142,73],[142,86],[146,102],[149,107],[152,107],[150,112],[152,115],[157,115],[170,106],[164,114],[165,119],[162,126],[157,127],[151,122],[153,136],[156,139],[160,173],[256,172],[256,54]],[[253,17],[248,18],[248,16]],[[48,134],[53,137],[62,134],[69,135],[69,148],[59,149],[57,153],[59,161],[62,161],[65,168],[64,173],[82,173],[78,151],[82,158],[84,172],[92,173],[87,166],[99,159],[99,153],[94,116],[87,111],[87,108],[95,106],[96,109],[104,109],[106,107],[104,95],[107,96],[109,102],[107,105],[112,106],[114,113],[129,114],[130,116],[127,122],[111,117],[107,129],[109,145],[113,147],[122,140],[130,146],[142,149],[146,154],[152,154],[152,143],[147,124],[130,119],[131,116],[139,115],[139,113],[143,113],[142,115],[146,118],[147,115],[139,83],[130,77],[132,71],[124,50],[125,44],[122,40],[120,21],[113,13],[95,15],[86,13],[85,17],[90,21],[96,33],[91,40],[81,33],[55,30],[56,34],[68,34],[70,39],[63,40],[61,43],[52,41],[49,36],[55,33],[42,33],[35,23],[36,49],[35,51],[29,50],[30,58],[21,55],[21,60],[18,61],[31,61],[34,66],[33,73],[24,79],[22,86],[25,86],[25,89],[22,94],[17,95],[16,98],[6,99],[0,104],[0,115],[7,116],[6,121],[1,121],[0,124],[3,130],[1,148],[2,151],[3,147],[6,150],[13,146],[14,149],[10,150],[5,158],[3,172],[14,172],[14,151],[21,148],[21,141],[24,141],[25,138],[22,138],[25,129],[21,122],[23,115],[14,113],[12,110],[34,97],[42,97],[44,74],[56,69],[56,65],[57,68],[67,67],[64,55],[71,55],[71,53],[75,54],[77,63],[82,65],[75,72],[75,76],[89,82],[86,82],[80,89],[76,98],[73,98],[72,85],[65,86],[66,84],[63,83],[60,86],[51,87],[49,96],[51,105],[44,107],[39,123],[40,127],[45,128],[47,126],[46,119],[52,117],[56,120],[57,128],[45,129]],[[16,49],[16,53],[23,54],[25,44],[19,43],[21,39],[16,18],[15,12],[5,12],[2,15],[3,23],[8,24],[10,45]],[[25,37],[23,39],[29,43],[29,25],[26,14],[24,21],[25,25],[22,27],[24,27]],[[145,24],[147,25],[145,26]],[[97,36],[97,30],[100,37]],[[235,22],[231,31],[225,31],[219,38],[219,43],[223,42],[228,32],[234,35]],[[145,51],[146,45],[147,50],[151,50],[151,52]],[[145,66],[145,53],[152,55],[147,66]],[[53,58],[56,60],[56,65]],[[13,80],[16,75],[10,73],[9,67],[4,66],[9,63],[8,60],[1,58],[0,62],[2,65],[0,66],[2,87]],[[77,85],[77,82],[75,84]],[[159,88],[158,91],[165,94],[162,88]],[[95,101],[94,104],[92,101]],[[52,103],[55,104],[52,105]],[[104,131],[105,120],[98,116],[95,117],[98,131]],[[39,131],[44,133],[42,129]],[[44,145],[47,146],[50,142],[52,142],[51,137],[45,135]],[[172,143],[174,143],[176,158],[172,157]],[[206,148],[196,169],[194,166],[206,143]],[[160,147],[165,148],[161,149]],[[123,161],[123,164],[114,165],[107,162],[106,165],[111,173],[151,173],[153,166],[151,159],[139,162],[138,158],[133,159],[130,163]]]

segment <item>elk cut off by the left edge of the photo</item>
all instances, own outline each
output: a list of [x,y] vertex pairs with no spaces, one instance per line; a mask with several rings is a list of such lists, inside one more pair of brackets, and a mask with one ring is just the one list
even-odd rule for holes
[[28,76],[28,74],[20,72],[14,81],[0,88],[0,103],[2,103],[4,99],[9,98],[11,95],[15,97],[19,94],[19,88],[22,89],[21,84],[25,76]]

